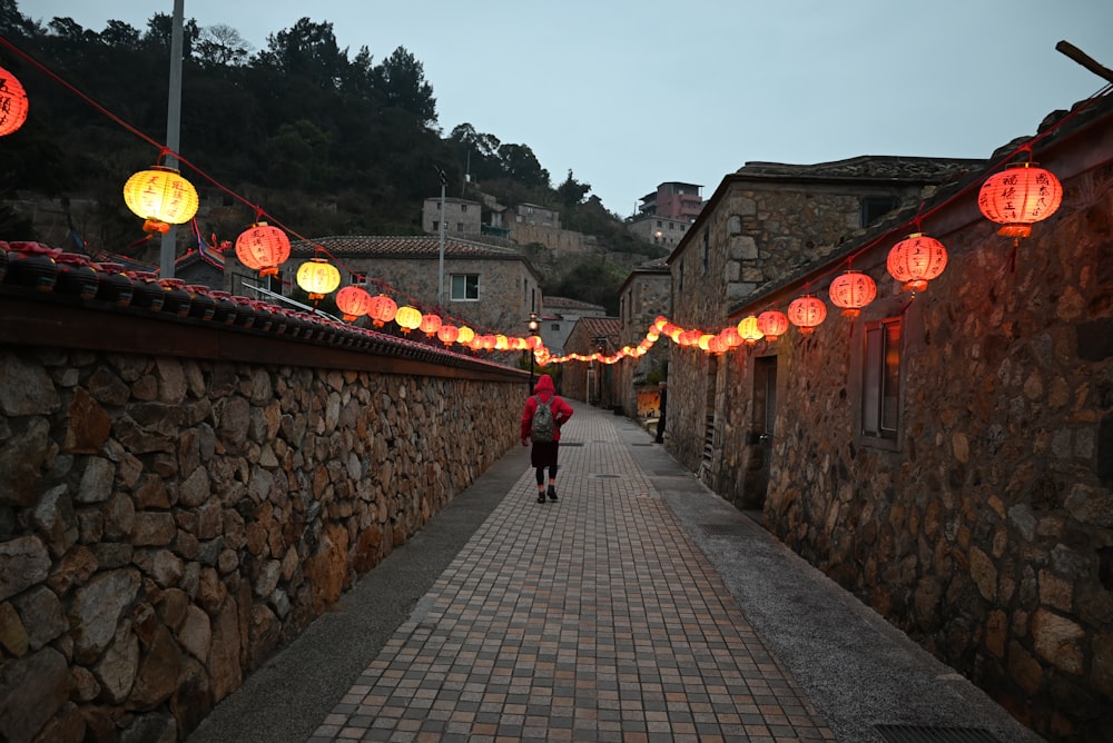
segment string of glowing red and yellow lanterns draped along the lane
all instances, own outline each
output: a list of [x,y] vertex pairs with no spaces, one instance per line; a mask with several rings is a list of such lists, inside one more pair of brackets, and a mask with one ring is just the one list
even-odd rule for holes
[[[4,46],[27,57],[7,40]],[[33,59],[30,61],[58,79]],[[59,81],[70,87],[65,81],[60,79]],[[79,91],[75,92],[86,98]],[[89,102],[121,126],[154,143],[154,140],[136,131],[93,101]],[[1081,108],[1076,108],[1073,113],[1077,113]],[[22,85],[14,76],[0,68],[0,136],[17,131],[27,120],[28,109],[28,98]],[[1064,121],[1065,119],[1061,120],[1058,126]],[[1050,131],[1044,131],[1041,136],[1047,136]],[[1017,151],[1027,150],[1031,153],[1032,141]],[[169,150],[162,147],[160,159],[168,153]],[[181,162],[187,162],[180,156],[177,158]],[[247,204],[198,168],[194,169]],[[1001,225],[998,235],[1013,238],[1015,260],[1020,239],[1031,235],[1033,224],[1052,216],[1058,209],[1062,198],[1063,188],[1058,179],[1052,172],[1040,168],[1037,164],[1027,161],[1008,164],[1003,170],[989,176],[982,184],[977,204],[986,219]],[[198,208],[197,191],[193,184],[177,169],[162,165],[155,165],[132,175],[124,186],[124,200],[128,208],[144,220],[144,230],[148,232],[166,232],[170,225],[188,222]],[[256,207],[256,222],[236,239],[237,257],[244,266],[258,271],[260,277],[277,274],[279,267],[290,257],[290,242],[286,232],[262,220],[263,216],[263,210]],[[918,225],[917,218],[916,226]],[[321,252],[324,248],[317,246],[317,250]],[[947,251],[943,244],[920,231],[915,231],[894,245],[886,259],[889,275],[902,284],[903,290],[912,293],[924,291],[928,283],[943,273],[946,265]],[[339,270],[319,256],[303,262],[297,270],[297,285],[306,290],[311,300],[315,303],[337,291],[339,284]],[[876,298],[877,286],[868,275],[848,269],[831,280],[828,295],[831,304],[841,308],[844,316],[853,319]],[[686,330],[659,316],[638,346],[627,346],[613,355],[597,353],[587,356],[571,354],[551,357],[539,336],[477,335],[467,326],[457,327],[446,323],[437,314],[422,313],[410,305],[398,307],[386,294],[372,296],[365,288],[354,284],[339,289],[335,299],[345,321],[354,321],[364,316],[367,316],[376,327],[394,321],[404,334],[420,329],[430,338],[435,335],[445,346],[455,343],[472,350],[531,350],[542,365],[570,360],[613,364],[628,356],[644,355],[661,335],[682,347],[698,347],[706,353],[721,354],[740,346],[752,346],[761,339],[774,343],[788,330],[789,325],[796,326],[802,336],[807,336],[827,317],[826,304],[814,294],[806,293],[789,304],[787,313],[770,309],[757,316],[750,315],[737,325],[715,334],[697,328]]]

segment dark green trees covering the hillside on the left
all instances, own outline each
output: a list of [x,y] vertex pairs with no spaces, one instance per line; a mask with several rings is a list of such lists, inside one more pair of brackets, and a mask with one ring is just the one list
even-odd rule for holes
[[[184,26],[183,172],[209,198],[224,187],[247,201],[225,195],[235,208],[207,218],[206,234],[242,229],[254,221],[254,205],[302,236],[421,234],[421,205],[440,191],[443,170],[447,184],[464,184],[466,172],[508,206],[559,209],[567,228],[595,236],[607,250],[661,254],[589,197],[591,186],[571,170],[554,189],[528,145],[470,123],[442,136],[433,87],[404,47],[377,63],[366,47],[349,57],[331,22],[308,18],[269,34],[257,51],[227,26]],[[171,17],[154,13],[144,29],[110,20],[95,31],[71,18],[39,23],[17,0],[0,0],[0,32],[119,119],[0,51],[0,65],[33,98],[28,123],[0,148],[0,178],[21,190],[96,199],[95,225],[78,229],[93,248],[134,254],[142,235],[120,185],[161,155],[150,141],[166,128]],[[209,174],[219,185],[200,177]],[[549,262],[545,251],[534,252],[539,266]],[[546,279],[546,289],[617,313],[626,274],[592,259]]]

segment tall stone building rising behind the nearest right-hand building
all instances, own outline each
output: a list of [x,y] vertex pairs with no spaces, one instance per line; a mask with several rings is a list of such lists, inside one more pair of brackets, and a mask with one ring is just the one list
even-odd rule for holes
[[[759,287],[787,280],[802,267],[835,252],[866,227],[902,204],[919,204],[939,184],[982,167],[982,160],[858,157],[798,166],[751,162],[723,178],[688,236],[668,258],[672,271],[671,319],[684,328],[717,331],[730,306]],[[672,351],[673,361],[702,354]],[[715,378],[719,357],[683,385],[703,390],[703,375]],[[700,393],[702,394],[702,393]],[[693,470],[713,467],[710,457],[718,424],[718,398],[699,402],[699,414],[676,417],[669,425],[678,458]]]

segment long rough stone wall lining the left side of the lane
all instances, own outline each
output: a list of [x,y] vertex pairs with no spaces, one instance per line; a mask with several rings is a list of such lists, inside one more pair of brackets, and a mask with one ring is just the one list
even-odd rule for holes
[[[67,333],[126,343],[81,309],[61,308]],[[183,740],[516,443],[520,373],[347,365],[364,355],[312,346],[283,350],[288,364],[180,355],[214,347],[199,327],[179,355],[10,343],[13,311],[0,328],[12,743]],[[240,357],[270,343],[232,341]]]

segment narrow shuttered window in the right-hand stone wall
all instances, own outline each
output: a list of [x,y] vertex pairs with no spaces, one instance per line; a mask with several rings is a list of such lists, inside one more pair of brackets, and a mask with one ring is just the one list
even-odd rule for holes
[[900,429],[903,323],[890,318],[866,325],[861,356],[861,436],[896,442]]

